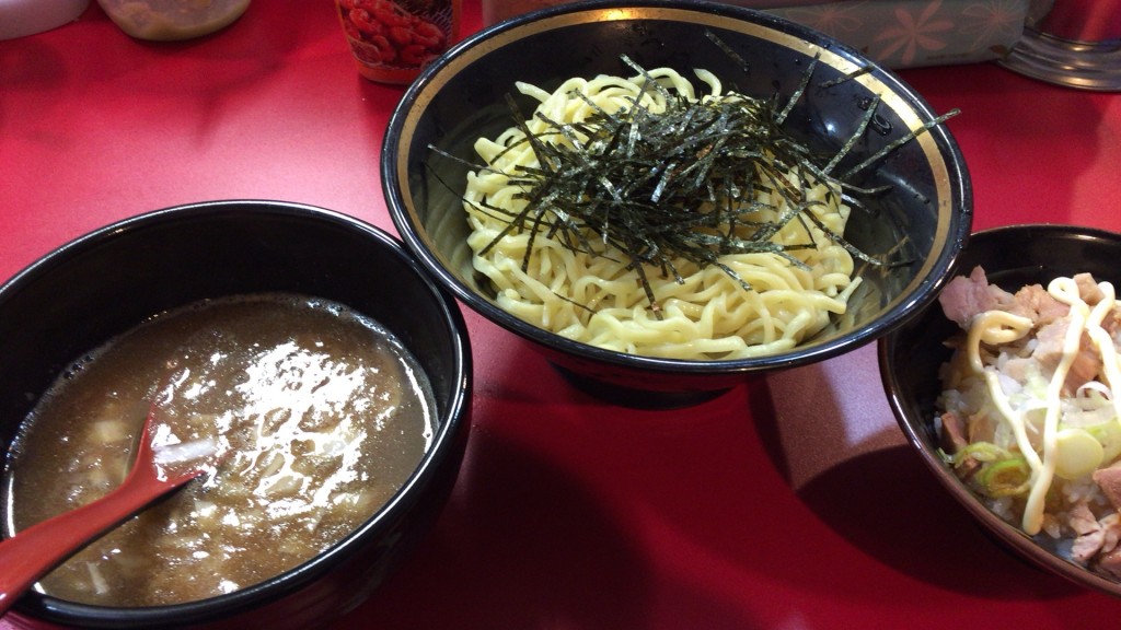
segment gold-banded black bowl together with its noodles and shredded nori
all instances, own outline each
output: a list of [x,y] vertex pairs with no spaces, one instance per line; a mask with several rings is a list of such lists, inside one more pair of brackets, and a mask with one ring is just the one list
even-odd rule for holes
[[934,298],[972,216],[951,113],[763,12],[582,2],[427,68],[381,178],[467,307],[592,393],[689,404]]

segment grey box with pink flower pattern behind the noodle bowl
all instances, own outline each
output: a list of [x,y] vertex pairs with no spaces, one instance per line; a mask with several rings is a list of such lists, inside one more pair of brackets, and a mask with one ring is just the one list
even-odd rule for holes
[[1030,0],[724,0],[819,30],[893,68],[985,62],[1019,41]]

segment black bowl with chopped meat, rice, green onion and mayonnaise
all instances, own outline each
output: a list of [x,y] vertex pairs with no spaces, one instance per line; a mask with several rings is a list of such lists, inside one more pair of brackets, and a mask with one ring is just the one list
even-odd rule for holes
[[1121,234],[1091,228],[976,232],[938,302],[878,344],[899,426],[965,513],[1035,565],[1113,595],[1121,363],[1108,333],[1095,339],[1121,323],[1118,256]]

